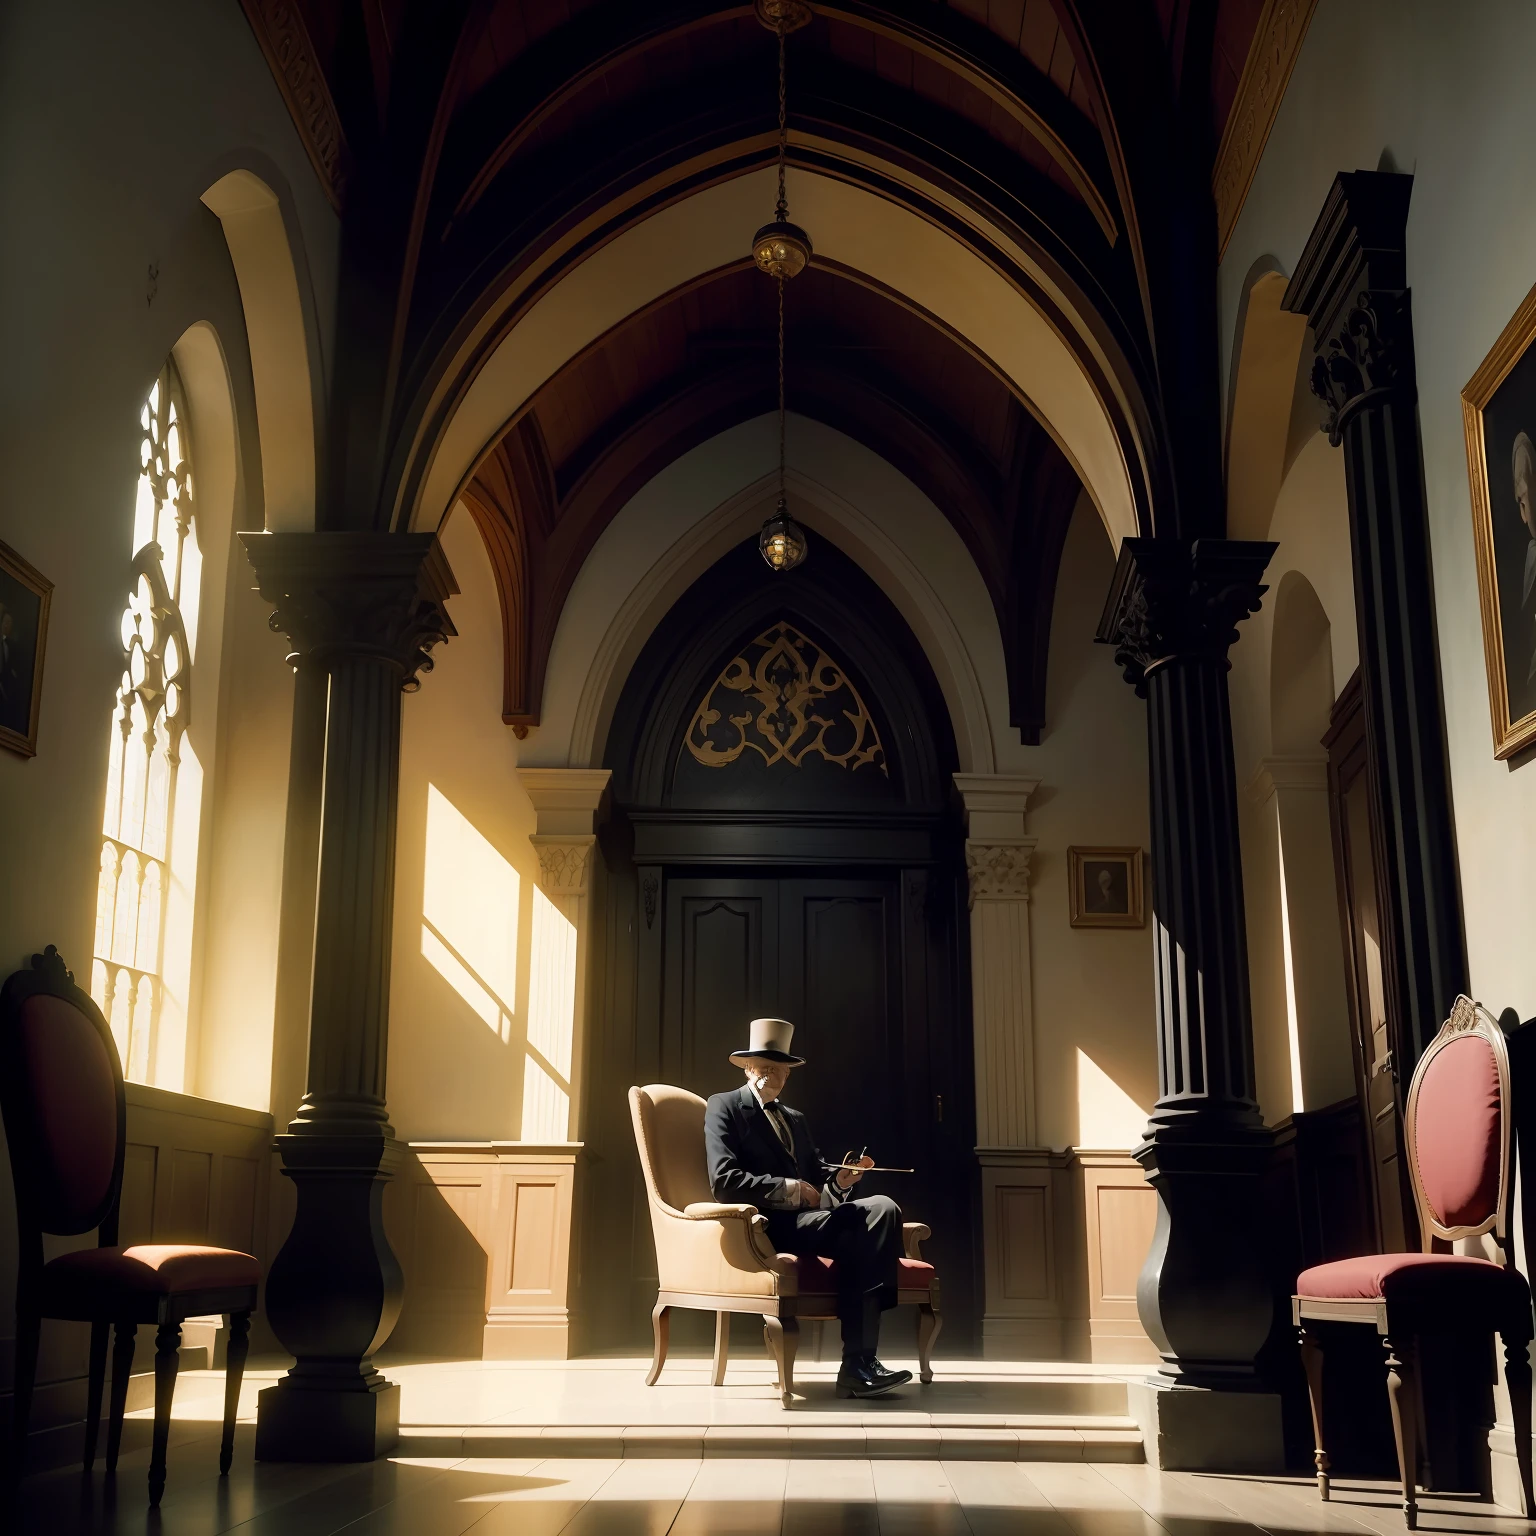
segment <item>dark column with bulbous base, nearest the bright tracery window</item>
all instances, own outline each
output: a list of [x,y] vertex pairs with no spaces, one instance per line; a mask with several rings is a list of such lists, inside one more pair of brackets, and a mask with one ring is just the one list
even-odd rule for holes
[[399,1146],[384,1103],[399,696],[453,633],[458,591],[433,535],[243,533],[295,657],[324,673],[326,727],[304,1097],[280,1135],[296,1213],[264,1287],[295,1355],[260,1395],[257,1456],[369,1461],[398,1439],[399,1389],[373,1352],[399,1315],[384,1183]]

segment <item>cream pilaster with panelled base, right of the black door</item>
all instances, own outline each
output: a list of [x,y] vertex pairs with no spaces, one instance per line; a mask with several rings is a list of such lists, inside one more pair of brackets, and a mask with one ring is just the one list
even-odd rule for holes
[[1025,813],[1038,779],[955,774],[966,811],[975,1155],[986,1307],[982,1353],[1061,1355],[1055,1241],[1060,1157],[1035,1144],[1035,1018]]

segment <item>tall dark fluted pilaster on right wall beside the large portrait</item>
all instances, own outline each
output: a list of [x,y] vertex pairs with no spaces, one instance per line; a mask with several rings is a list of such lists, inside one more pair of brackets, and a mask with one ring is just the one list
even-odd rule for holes
[[1398,1078],[1467,986],[1407,287],[1413,178],[1335,178],[1283,306],[1312,323],[1312,392],[1344,449]]

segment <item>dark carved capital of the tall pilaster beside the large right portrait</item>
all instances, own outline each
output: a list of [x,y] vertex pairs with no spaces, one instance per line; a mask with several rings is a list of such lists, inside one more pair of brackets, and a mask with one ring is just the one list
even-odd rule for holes
[[1413,177],[1347,170],[1333,178],[1281,300],[1313,332],[1312,393],[1338,447],[1366,404],[1413,399],[1407,227]]

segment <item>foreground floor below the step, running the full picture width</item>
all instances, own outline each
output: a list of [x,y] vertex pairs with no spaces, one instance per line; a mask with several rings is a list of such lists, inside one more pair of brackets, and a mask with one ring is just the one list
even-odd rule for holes
[[[144,1455],[118,1470],[29,1479],[18,1531],[155,1536],[1399,1536],[1395,1488],[1344,1482],[1319,1504],[1299,1478],[1217,1478],[1146,1465],[836,1458],[550,1458],[257,1465],[243,1432],[217,1476],[200,1427],[175,1447],[160,1518]],[[1424,1531],[1519,1533],[1530,1524],[1470,1498],[1424,1496]]]

